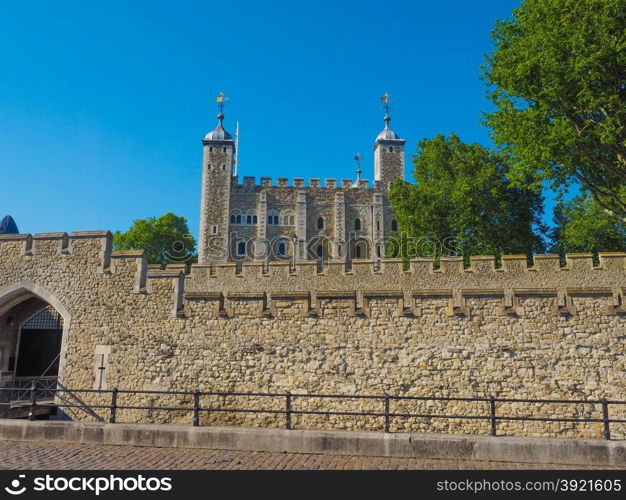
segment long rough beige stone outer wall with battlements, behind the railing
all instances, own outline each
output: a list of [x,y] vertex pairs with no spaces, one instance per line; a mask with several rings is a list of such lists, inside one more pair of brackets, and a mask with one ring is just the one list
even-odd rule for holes
[[[72,388],[502,398],[626,399],[626,254],[148,267],[108,232],[0,236],[0,321],[37,296],[64,316],[61,379]],[[106,353],[105,380],[97,362]],[[99,357],[100,356],[100,357]],[[94,403],[98,398],[81,395]],[[191,396],[120,404],[191,406]],[[100,401],[108,403],[108,397]],[[203,406],[283,409],[284,398],[204,397]],[[382,411],[382,400],[295,398],[294,409]],[[486,415],[488,403],[402,401],[395,412]],[[107,410],[99,413],[106,418]],[[501,403],[501,415],[601,418],[597,404]],[[75,413],[75,418],[87,418]],[[611,406],[626,417],[626,406]],[[191,422],[120,410],[119,421]],[[203,424],[282,426],[273,414]],[[296,427],[381,429],[380,418],[295,416]],[[392,430],[487,433],[483,420],[393,419]],[[600,423],[501,422],[502,434],[601,437]],[[613,436],[626,428],[613,425]]]

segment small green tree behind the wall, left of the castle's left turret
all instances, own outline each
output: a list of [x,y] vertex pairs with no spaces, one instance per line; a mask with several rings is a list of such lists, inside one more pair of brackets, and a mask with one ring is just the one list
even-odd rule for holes
[[145,250],[151,264],[195,260],[196,240],[189,233],[187,219],[171,212],[161,217],[136,219],[124,233],[113,235],[115,250]]

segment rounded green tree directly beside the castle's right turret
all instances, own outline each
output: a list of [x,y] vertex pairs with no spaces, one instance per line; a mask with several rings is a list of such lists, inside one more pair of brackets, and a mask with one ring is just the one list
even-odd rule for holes
[[439,135],[420,141],[413,164],[417,184],[397,180],[390,192],[404,257],[437,245],[466,256],[543,251],[543,199],[509,185],[500,155]]

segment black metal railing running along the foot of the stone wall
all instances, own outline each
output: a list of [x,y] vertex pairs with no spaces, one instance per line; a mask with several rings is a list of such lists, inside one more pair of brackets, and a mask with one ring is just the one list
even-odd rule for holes
[[[0,387],[0,391],[23,391],[23,388]],[[384,395],[346,395],[346,394],[292,394],[284,393],[263,393],[263,392],[205,392],[205,391],[143,391],[143,390],[123,390],[123,389],[68,389],[65,387],[41,388],[37,383],[33,383],[28,392],[29,413],[28,418],[35,418],[35,410],[37,408],[78,408],[85,410],[87,405],[90,411],[99,417],[94,410],[107,410],[108,422],[114,424],[117,422],[117,413],[120,410],[146,410],[146,411],[178,411],[189,412],[192,416],[191,423],[193,426],[200,426],[200,416],[209,413],[243,413],[243,414],[268,414],[282,415],[284,417],[284,425],[287,430],[294,428],[293,417],[298,415],[318,415],[318,416],[348,416],[348,417],[370,417],[380,418],[383,424],[381,428],[384,432],[390,432],[391,422],[393,419],[423,418],[423,419],[466,419],[466,420],[482,420],[488,421],[490,424],[490,435],[497,436],[498,422],[568,422],[574,424],[598,423],[602,424],[602,433],[604,439],[611,439],[611,424],[626,423],[626,418],[610,418],[610,406],[626,405],[626,401],[609,401],[607,399],[596,400],[575,400],[575,399],[516,399],[516,398],[496,398],[496,397],[439,397],[439,396],[391,396]],[[40,403],[39,395],[41,393],[54,393],[56,401],[54,403]],[[73,404],[65,402],[60,395],[62,393],[76,394],[97,394],[107,395],[107,404],[90,404],[81,401],[81,404]],[[120,404],[119,398],[123,395],[157,395],[157,396],[184,396],[189,397],[191,404],[189,406],[154,406],[154,405],[131,405]],[[282,400],[282,408],[232,408],[232,407],[204,407],[201,405],[203,397],[232,397],[232,398],[268,398],[273,400]],[[333,410],[310,410],[295,409],[294,401],[297,399],[336,399],[340,401],[357,401],[368,400],[378,401],[381,411],[333,411]],[[486,403],[488,411],[483,415],[476,414],[445,414],[445,413],[410,413],[401,411],[392,411],[391,404],[400,401],[432,401],[432,402],[465,402],[465,403]],[[521,403],[527,405],[597,405],[600,406],[602,416],[597,418],[591,417],[537,417],[537,416],[518,416],[518,415],[501,415],[498,413],[498,405],[508,403]],[[11,403],[0,403],[2,405],[10,405]]]

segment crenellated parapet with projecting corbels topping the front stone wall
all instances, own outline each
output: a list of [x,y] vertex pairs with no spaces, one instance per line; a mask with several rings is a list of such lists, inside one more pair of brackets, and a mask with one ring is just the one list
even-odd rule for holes
[[[322,314],[323,304],[344,306],[351,315],[367,315],[372,300],[383,299],[402,316],[419,316],[425,304],[445,307],[449,315],[469,316],[468,303],[497,300],[499,313],[521,315],[528,297],[550,298],[553,314],[577,313],[576,297],[596,297],[606,314],[625,311],[626,253],[601,253],[594,265],[591,254],[568,254],[565,265],[558,255],[535,255],[532,265],[524,255],[507,255],[496,267],[493,256],[474,256],[464,267],[461,257],[413,259],[408,267],[399,259],[380,262],[355,260],[185,264],[166,269],[148,265],[143,250],[112,251],[109,231],[16,234],[0,236],[0,261],[9,257],[39,261],[44,267],[67,272],[117,276],[119,293],[150,294],[165,286],[171,311],[184,317],[205,301],[219,315],[238,312],[268,315],[291,303],[305,315]],[[72,259],[76,259],[72,263]],[[86,267],[85,267],[86,266]],[[32,262],[27,267],[32,267]],[[163,284],[165,283],[165,284]],[[443,302],[442,302],[443,301]],[[242,303],[247,304],[242,309]],[[238,306],[238,305],[239,306]],[[211,306],[211,307],[213,307]]]

